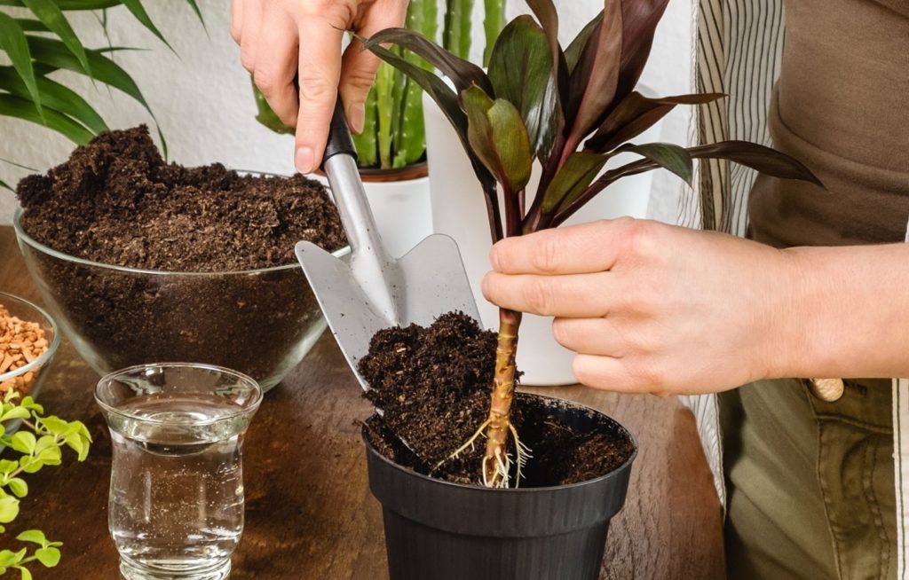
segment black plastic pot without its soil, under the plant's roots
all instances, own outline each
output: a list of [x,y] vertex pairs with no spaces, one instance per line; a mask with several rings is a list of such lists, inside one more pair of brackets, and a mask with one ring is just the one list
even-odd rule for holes
[[575,429],[605,428],[628,437],[634,453],[613,472],[578,484],[487,489],[400,467],[364,435],[369,487],[383,507],[391,580],[599,578],[609,520],[624,506],[637,442],[599,411],[539,398]]

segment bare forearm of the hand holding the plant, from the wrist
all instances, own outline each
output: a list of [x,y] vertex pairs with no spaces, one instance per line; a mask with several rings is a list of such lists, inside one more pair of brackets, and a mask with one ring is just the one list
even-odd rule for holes
[[790,299],[770,374],[909,377],[909,244],[783,254]]

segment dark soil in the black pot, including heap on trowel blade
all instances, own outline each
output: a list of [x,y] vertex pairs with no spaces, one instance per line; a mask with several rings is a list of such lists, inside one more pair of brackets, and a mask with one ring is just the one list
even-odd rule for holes
[[[424,475],[481,485],[484,437],[451,456],[486,420],[495,347],[495,333],[460,312],[444,314],[428,328],[377,332],[359,363],[370,385],[365,396],[383,411],[366,421],[370,442],[385,457]],[[562,405],[520,393],[515,397],[514,426],[533,456],[521,487],[600,477],[633,453],[631,438],[612,422],[586,432],[565,425],[557,413]]]

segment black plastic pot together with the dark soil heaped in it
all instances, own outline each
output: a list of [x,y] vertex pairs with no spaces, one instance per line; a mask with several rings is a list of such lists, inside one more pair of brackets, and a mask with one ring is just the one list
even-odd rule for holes
[[483,487],[484,440],[470,441],[488,414],[495,346],[493,331],[454,312],[376,333],[359,363],[382,410],[363,437],[392,580],[600,577],[634,436],[592,408],[518,393],[513,487]]

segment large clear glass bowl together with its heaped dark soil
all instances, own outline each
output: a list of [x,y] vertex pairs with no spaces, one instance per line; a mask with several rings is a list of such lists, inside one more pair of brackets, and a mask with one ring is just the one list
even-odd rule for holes
[[318,182],[165,163],[144,126],[99,135],[16,195],[25,265],[101,374],[190,361],[271,388],[326,328],[294,244],[349,251]]

